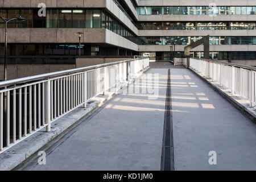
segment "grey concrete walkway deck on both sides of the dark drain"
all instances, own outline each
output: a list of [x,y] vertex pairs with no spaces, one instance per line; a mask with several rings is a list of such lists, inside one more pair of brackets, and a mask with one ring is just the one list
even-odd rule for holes
[[[171,69],[175,170],[256,170],[256,125],[184,67],[151,63],[159,97],[135,82],[49,148],[26,170],[160,170],[167,73]],[[143,80],[144,78],[142,78]],[[148,81],[148,83],[151,83]],[[216,151],[217,165],[208,163]]]

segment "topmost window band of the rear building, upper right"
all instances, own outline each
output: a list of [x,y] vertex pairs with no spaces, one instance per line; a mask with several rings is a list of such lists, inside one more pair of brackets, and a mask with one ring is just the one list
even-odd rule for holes
[[256,6],[137,7],[139,15],[255,15]]

